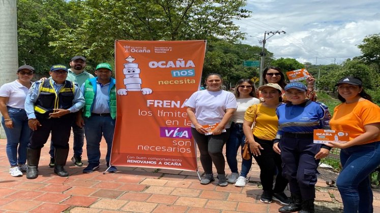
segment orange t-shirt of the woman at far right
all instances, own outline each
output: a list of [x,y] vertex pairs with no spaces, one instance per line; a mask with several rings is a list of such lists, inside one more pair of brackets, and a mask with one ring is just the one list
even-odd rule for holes
[[[364,125],[374,123],[380,123],[380,107],[369,100],[337,105],[330,120],[331,129],[348,131],[350,140],[365,132]],[[363,144],[379,140],[380,134]]]

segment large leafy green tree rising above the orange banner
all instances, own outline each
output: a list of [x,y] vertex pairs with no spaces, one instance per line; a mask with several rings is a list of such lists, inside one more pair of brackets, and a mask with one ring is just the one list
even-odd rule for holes
[[114,40],[238,41],[244,34],[232,20],[249,16],[245,0],[70,2],[81,22],[54,30],[49,44],[62,57],[81,52],[94,61],[112,60]]

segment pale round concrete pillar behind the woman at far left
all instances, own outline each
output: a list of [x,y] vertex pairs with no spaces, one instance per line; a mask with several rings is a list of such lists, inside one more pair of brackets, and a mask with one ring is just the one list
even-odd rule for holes
[[[16,79],[17,67],[16,0],[0,0],[0,86]],[[5,138],[3,128],[0,138]]]

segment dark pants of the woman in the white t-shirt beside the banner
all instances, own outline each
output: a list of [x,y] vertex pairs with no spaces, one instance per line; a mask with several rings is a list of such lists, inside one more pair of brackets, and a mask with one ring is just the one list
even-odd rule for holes
[[219,135],[204,135],[199,133],[195,128],[191,128],[196,145],[200,153],[200,163],[204,173],[213,173],[213,163],[218,174],[225,174],[225,159],[223,147],[229,136],[229,129]]

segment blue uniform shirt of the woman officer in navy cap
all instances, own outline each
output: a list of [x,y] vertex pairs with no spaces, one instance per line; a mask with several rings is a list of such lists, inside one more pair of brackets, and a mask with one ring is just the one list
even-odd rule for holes
[[276,138],[280,139],[284,132],[313,133],[314,129],[324,128],[325,113],[324,107],[311,100],[298,105],[291,103],[280,105],[276,109],[278,117]]

